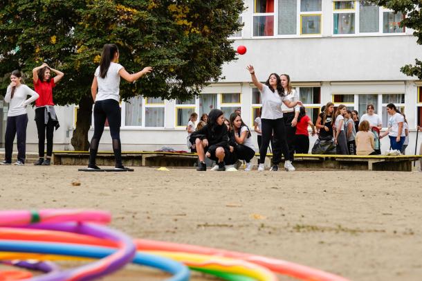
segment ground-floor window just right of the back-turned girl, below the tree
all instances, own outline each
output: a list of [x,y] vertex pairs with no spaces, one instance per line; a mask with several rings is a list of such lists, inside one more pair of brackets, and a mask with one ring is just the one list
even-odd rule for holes
[[125,102],[125,126],[164,127],[164,100],[161,98],[130,98]]

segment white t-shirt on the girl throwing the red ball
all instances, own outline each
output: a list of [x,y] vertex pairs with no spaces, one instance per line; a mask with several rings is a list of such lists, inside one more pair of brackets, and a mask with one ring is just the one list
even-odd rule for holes
[[262,119],[283,118],[282,103],[286,96],[280,97],[277,90],[273,91],[266,84],[262,84]]

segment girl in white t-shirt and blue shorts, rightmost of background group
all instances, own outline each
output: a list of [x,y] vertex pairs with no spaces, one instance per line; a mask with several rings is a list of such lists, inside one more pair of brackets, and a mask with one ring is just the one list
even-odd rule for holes
[[387,105],[387,113],[389,115],[388,129],[380,134],[380,138],[388,135],[391,149],[401,151],[405,142],[405,126],[403,125],[405,118],[398,113],[396,106],[392,103]]

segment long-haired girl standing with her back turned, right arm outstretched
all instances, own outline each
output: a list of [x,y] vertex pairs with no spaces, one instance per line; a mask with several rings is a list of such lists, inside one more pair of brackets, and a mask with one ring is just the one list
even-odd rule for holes
[[116,44],[105,44],[102,48],[100,66],[95,70],[91,86],[92,98],[95,101],[93,110],[94,134],[89,147],[88,169],[100,170],[100,167],[95,165],[95,157],[106,120],[109,121],[116,169],[127,169],[122,165],[122,145],[120,144],[120,77],[128,82],[134,82],[143,75],[150,73],[152,67],[148,66],[138,73],[129,74],[122,65],[117,63],[118,60],[119,50]]

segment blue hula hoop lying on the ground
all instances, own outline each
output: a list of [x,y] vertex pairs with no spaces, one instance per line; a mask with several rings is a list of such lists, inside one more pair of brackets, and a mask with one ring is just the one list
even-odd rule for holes
[[[82,246],[77,244],[59,244],[47,242],[17,242],[14,240],[1,240],[0,251],[12,251],[19,253],[46,253],[53,255],[69,255],[73,257],[103,258],[112,255],[116,249],[100,246]],[[0,256],[3,253],[0,253]],[[10,258],[10,253],[6,253]],[[19,257],[24,257],[18,255]],[[132,260],[135,264],[145,265],[171,273],[173,276],[167,280],[187,281],[190,278],[190,271],[183,264],[165,257],[158,257],[148,253],[136,253]],[[46,275],[44,275],[46,276]],[[33,278],[33,281],[39,280]],[[62,279],[66,280],[66,279]],[[84,279],[86,280],[86,279]]]

